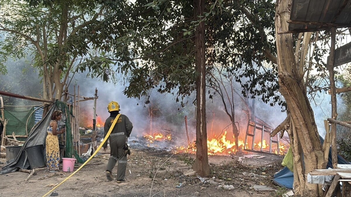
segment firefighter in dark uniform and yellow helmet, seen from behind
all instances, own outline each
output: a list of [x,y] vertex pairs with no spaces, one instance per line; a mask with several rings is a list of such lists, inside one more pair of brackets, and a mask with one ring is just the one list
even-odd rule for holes
[[[119,104],[115,101],[111,101],[107,106],[108,112],[110,112],[110,117],[106,119],[104,127],[104,138],[108,130],[119,114]],[[130,154],[127,145],[127,138],[130,136],[133,129],[133,124],[126,115],[121,114],[110,134],[110,148],[111,156],[108,159],[107,169],[106,169],[106,178],[108,181],[112,181],[112,169],[118,163],[117,166],[117,183],[125,182],[125,174],[127,168],[127,154]],[[106,151],[107,140],[102,145],[104,151]]]

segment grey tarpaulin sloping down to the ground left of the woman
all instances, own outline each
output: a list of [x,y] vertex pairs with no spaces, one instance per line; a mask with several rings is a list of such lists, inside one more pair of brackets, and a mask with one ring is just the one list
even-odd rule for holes
[[[28,169],[29,162],[26,161],[26,163],[25,163],[25,159],[26,159],[25,148],[32,147],[35,145],[40,145],[40,144],[42,144],[45,147],[45,140],[46,140],[46,135],[47,135],[46,129],[47,129],[49,122],[51,121],[52,113],[54,112],[54,110],[57,109],[57,107],[55,105],[51,105],[50,107],[51,107],[51,109],[48,111],[46,116],[37,125],[35,125],[35,127],[31,131],[31,133],[29,133],[27,140],[23,144],[23,147],[22,147],[20,153],[17,155],[16,158],[14,158],[14,160],[11,163],[5,165],[2,168],[3,170],[0,171],[0,174],[15,172],[15,171],[18,171],[20,168]],[[62,115],[62,119],[64,119],[63,116],[64,115]],[[44,149],[43,153],[44,153],[44,161],[45,161],[46,160],[45,159],[46,158],[45,149]]]

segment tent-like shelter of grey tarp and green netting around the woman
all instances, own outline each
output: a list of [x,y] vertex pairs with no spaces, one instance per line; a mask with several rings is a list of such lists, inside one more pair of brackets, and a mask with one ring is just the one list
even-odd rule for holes
[[72,155],[75,156],[77,161],[79,163],[83,163],[83,160],[79,157],[77,154],[77,151],[73,149],[73,142],[72,142],[72,131],[71,131],[71,124],[70,124],[70,116],[71,112],[69,111],[67,107],[67,103],[65,102],[60,102],[56,101],[55,104],[52,104],[51,109],[48,111],[48,113],[45,115],[45,117],[42,118],[41,122],[39,122],[31,133],[28,134],[28,138],[26,142],[24,143],[23,147],[20,150],[20,153],[17,155],[16,158],[13,159],[12,162],[7,164],[5,167],[3,167],[2,171],[0,171],[0,174],[6,174],[9,172],[15,172],[18,171],[20,168],[22,169],[28,169],[30,167],[29,162],[27,161],[27,155],[26,155],[26,148],[33,147],[35,145],[43,145],[43,159],[46,161],[46,150],[45,150],[45,140],[46,140],[46,129],[47,126],[49,125],[49,122],[51,121],[51,115],[55,110],[61,110],[62,111],[62,119],[59,122],[59,128],[66,127],[66,151],[65,151],[65,157],[72,157]]

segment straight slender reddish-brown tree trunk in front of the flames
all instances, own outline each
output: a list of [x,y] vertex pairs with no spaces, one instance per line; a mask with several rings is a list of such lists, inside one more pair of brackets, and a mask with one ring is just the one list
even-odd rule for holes
[[[205,0],[194,0],[194,18],[205,12]],[[207,131],[206,131],[206,61],[205,61],[205,23],[204,21],[196,27],[195,31],[195,62],[197,70],[196,80],[196,160],[194,171],[200,176],[207,176],[211,173],[207,155]]]

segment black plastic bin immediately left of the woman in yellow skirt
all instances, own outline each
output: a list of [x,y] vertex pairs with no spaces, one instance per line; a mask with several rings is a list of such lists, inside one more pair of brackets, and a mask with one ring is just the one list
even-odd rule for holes
[[26,148],[26,153],[31,169],[45,167],[43,158],[43,145],[35,145]]

